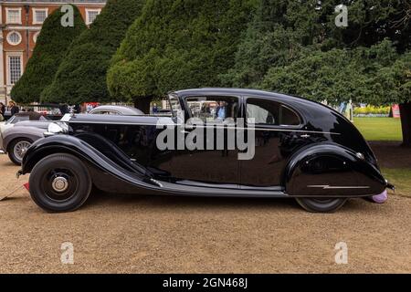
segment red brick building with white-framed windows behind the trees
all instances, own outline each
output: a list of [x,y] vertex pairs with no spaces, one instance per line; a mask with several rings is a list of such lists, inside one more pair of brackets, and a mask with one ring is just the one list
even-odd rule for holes
[[100,14],[105,0],[8,0],[0,1],[0,101],[9,99],[10,90],[23,74],[36,46],[44,20],[63,4],[79,7],[87,25]]

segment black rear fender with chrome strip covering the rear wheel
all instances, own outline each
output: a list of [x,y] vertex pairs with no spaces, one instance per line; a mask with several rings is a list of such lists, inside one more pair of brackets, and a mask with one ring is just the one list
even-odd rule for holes
[[290,157],[283,185],[292,196],[368,196],[388,186],[373,163],[335,143],[318,143]]

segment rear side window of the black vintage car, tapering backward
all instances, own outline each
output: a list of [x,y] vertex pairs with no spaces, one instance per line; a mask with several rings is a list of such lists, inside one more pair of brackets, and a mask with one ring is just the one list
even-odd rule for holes
[[257,125],[300,125],[300,118],[293,110],[277,101],[268,99],[248,98],[247,120],[248,123],[254,120]]

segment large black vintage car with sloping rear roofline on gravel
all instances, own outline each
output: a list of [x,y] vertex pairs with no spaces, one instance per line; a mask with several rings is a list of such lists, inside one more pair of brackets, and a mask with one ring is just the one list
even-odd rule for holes
[[19,172],[31,172],[33,200],[73,211],[94,185],[111,193],[290,197],[310,212],[332,212],[393,187],[360,132],[320,103],[252,89],[187,89],[168,98],[170,117],[66,115],[51,124]]

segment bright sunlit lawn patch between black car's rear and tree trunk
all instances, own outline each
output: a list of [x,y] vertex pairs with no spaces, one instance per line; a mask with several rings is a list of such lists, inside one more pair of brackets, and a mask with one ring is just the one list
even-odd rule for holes
[[402,141],[401,120],[393,118],[354,118],[353,124],[367,141]]

